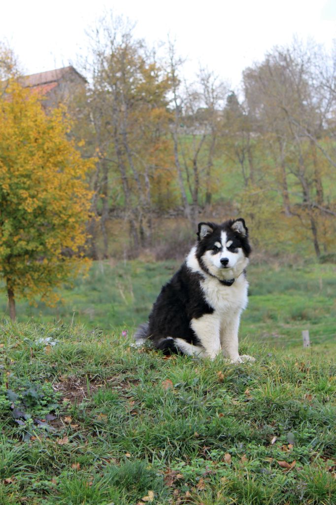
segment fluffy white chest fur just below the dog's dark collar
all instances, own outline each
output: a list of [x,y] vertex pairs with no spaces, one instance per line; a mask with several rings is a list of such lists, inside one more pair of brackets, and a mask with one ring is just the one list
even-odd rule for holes
[[217,279],[206,276],[200,282],[205,300],[220,315],[246,309],[248,282],[245,277],[235,280],[232,286],[225,286]]

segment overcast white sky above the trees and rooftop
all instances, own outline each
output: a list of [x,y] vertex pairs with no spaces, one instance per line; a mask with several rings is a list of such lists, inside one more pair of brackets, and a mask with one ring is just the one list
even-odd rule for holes
[[199,63],[237,86],[241,72],[274,45],[294,35],[331,47],[336,0],[13,0],[0,10],[0,40],[19,57],[25,73],[59,68],[85,54],[85,29],[105,11],[136,22],[148,43],[176,39],[188,58],[187,75]]

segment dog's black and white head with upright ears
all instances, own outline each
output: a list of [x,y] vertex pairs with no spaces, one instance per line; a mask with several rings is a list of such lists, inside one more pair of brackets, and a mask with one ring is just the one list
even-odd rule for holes
[[251,247],[244,219],[199,223],[197,235],[196,257],[205,272],[228,280],[247,267]]

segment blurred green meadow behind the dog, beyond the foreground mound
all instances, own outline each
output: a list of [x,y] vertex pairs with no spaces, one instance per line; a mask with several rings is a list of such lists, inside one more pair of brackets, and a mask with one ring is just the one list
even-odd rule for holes
[[[178,264],[167,262],[95,262],[87,277],[61,292],[63,304],[17,305],[20,322],[63,321],[87,329],[128,330],[147,320],[161,286]],[[242,317],[241,335],[272,347],[300,345],[302,330],[310,331],[313,346],[336,337],[336,265],[251,265],[249,306]],[[6,297],[0,305],[6,312]]]

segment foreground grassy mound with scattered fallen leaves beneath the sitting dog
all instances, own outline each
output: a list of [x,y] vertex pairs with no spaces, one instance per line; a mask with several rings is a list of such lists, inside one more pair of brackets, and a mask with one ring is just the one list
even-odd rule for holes
[[257,361],[236,366],[71,324],[0,331],[1,505],[336,502],[334,344],[245,340]]

